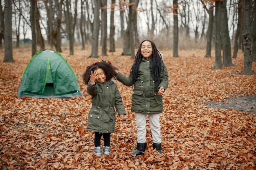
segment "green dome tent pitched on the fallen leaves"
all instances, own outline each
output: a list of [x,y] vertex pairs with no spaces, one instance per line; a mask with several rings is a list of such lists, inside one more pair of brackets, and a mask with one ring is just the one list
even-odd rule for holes
[[70,98],[83,96],[70,64],[58,52],[36,53],[22,75],[17,97]]

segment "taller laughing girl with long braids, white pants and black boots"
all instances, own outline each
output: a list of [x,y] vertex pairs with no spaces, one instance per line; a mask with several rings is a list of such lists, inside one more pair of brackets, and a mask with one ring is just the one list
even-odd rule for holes
[[117,80],[133,86],[131,111],[135,112],[137,148],[132,155],[146,150],[146,116],[153,137],[153,148],[162,153],[160,113],[163,112],[162,94],[168,86],[168,72],[154,42],[144,40],[139,45],[129,77],[118,72]]

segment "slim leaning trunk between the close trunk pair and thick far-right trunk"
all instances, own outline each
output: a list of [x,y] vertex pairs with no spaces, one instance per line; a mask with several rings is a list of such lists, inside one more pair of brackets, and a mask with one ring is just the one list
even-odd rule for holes
[[243,13],[242,13],[241,1],[242,0],[238,0],[238,24],[237,24],[236,35],[235,35],[235,40],[234,40],[233,58],[237,57],[238,38],[241,34],[241,25],[242,25],[242,22],[243,22]]

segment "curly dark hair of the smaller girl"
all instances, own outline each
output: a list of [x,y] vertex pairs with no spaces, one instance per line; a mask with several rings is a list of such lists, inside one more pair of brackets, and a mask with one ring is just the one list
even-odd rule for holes
[[113,66],[111,62],[102,60],[100,62],[95,62],[86,68],[86,71],[82,75],[84,84],[88,85],[91,78],[91,71],[94,73],[98,68],[101,68],[105,72],[107,82],[110,81],[112,77],[117,77],[116,70],[118,71],[118,68]]

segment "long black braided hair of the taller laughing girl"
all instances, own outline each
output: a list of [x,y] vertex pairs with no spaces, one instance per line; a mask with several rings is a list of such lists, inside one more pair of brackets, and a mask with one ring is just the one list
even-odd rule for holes
[[162,60],[161,53],[157,50],[155,43],[152,42],[151,40],[143,40],[139,45],[139,49],[137,51],[135,60],[133,62],[133,65],[130,71],[130,73],[132,74],[132,84],[135,84],[135,81],[137,78],[137,73],[139,71],[139,64],[141,63],[141,59],[143,58],[143,56],[141,55],[141,45],[145,41],[150,42],[152,46],[152,55],[150,60],[151,74],[156,83],[156,86],[158,86],[160,84],[160,73],[161,73],[161,66],[162,66],[163,60]]

